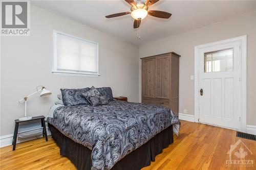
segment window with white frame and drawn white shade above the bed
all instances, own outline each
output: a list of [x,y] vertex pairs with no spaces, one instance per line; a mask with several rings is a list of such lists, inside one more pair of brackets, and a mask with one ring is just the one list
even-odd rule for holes
[[54,31],[53,73],[98,77],[98,43]]

